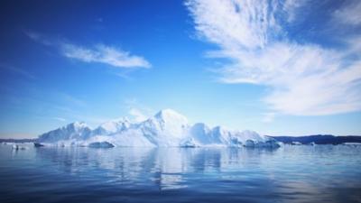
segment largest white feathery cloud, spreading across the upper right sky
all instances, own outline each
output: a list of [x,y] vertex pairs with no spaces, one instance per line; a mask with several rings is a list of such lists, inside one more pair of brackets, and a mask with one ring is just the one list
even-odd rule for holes
[[268,87],[263,100],[272,112],[331,115],[361,110],[361,49],[352,45],[357,38],[347,39],[343,50],[292,42],[278,19],[301,6],[292,2],[191,0],[186,5],[200,36],[219,46],[208,56],[230,60],[217,71],[220,81]]

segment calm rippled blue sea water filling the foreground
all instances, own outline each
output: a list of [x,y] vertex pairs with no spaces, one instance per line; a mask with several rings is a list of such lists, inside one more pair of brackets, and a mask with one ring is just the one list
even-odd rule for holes
[[0,202],[361,202],[361,146],[0,146]]

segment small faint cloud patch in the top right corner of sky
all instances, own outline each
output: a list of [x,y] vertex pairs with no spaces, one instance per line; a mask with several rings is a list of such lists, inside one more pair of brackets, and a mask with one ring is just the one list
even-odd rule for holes
[[361,24],[361,1],[348,0],[345,1],[343,6],[333,13],[333,17],[340,23],[351,25]]

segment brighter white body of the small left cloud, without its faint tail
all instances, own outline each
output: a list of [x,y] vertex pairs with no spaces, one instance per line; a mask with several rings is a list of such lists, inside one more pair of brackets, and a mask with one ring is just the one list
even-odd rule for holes
[[114,47],[98,44],[94,48],[84,48],[70,43],[62,43],[61,51],[65,57],[83,62],[104,63],[117,68],[150,68],[151,64],[143,57],[131,55]]

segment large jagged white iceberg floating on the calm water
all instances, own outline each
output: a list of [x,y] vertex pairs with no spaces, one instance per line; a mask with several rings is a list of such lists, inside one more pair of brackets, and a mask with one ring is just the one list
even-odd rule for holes
[[203,123],[190,125],[184,115],[165,109],[139,123],[127,119],[106,122],[95,129],[73,123],[39,136],[44,145],[97,146],[107,143],[124,147],[279,147],[271,137],[254,131],[228,130]]

